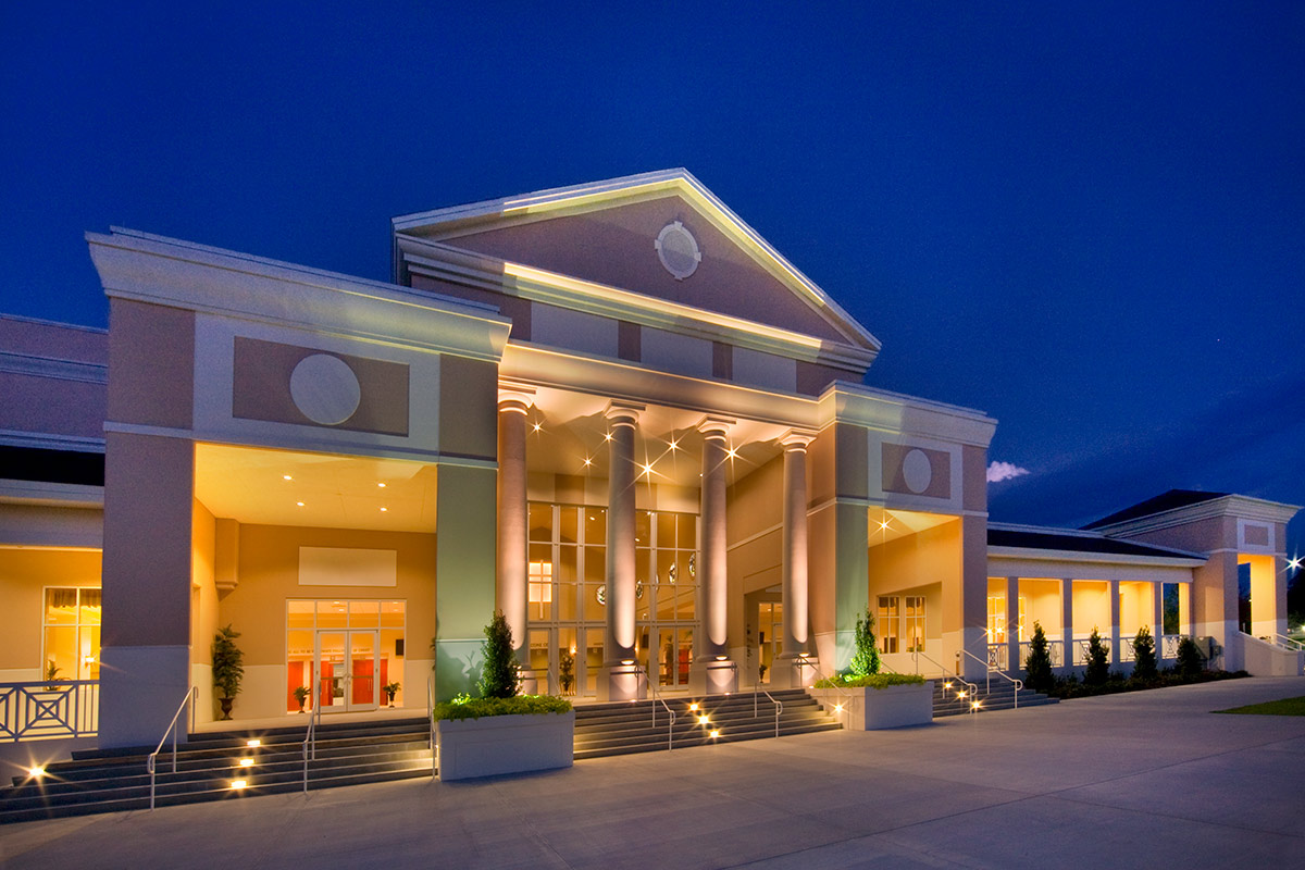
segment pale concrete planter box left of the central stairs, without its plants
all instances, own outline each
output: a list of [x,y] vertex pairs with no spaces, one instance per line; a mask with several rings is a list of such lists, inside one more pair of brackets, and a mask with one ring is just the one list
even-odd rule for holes
[[435,723],[444,781],[570,767],[576,711],[531,716],[441,719]]

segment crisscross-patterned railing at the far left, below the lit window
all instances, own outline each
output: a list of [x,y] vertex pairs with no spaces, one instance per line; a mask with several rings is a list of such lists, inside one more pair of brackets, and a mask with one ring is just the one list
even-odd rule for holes
[[0,741],[93,737],[98,732],[98,680],[0,682]]

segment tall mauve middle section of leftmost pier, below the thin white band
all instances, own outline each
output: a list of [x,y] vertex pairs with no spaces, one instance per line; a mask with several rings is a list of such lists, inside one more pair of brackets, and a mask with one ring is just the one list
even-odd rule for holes
[[103,646],[189,646],[193,483],[191,441],[108,433]]

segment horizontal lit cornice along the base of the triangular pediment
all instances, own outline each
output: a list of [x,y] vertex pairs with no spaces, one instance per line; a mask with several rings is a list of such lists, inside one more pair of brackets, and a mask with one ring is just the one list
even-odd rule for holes
[[397,236],[395,244],[410,274],[445,283],[489,290],[706,340],[820,363],[857,376],[870,367],[876,356],[874,351],[851,344],[827,342],[743,317],[497,260],[438,241]]

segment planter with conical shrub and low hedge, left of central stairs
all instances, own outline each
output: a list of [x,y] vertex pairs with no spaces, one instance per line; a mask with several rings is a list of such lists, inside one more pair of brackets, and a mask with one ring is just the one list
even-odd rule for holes
[[435,706],[441,780],[570,767],[576,711],[569,700],[518,695],[512,629],[501,612],[485,626],[484,664],[476,689]]

